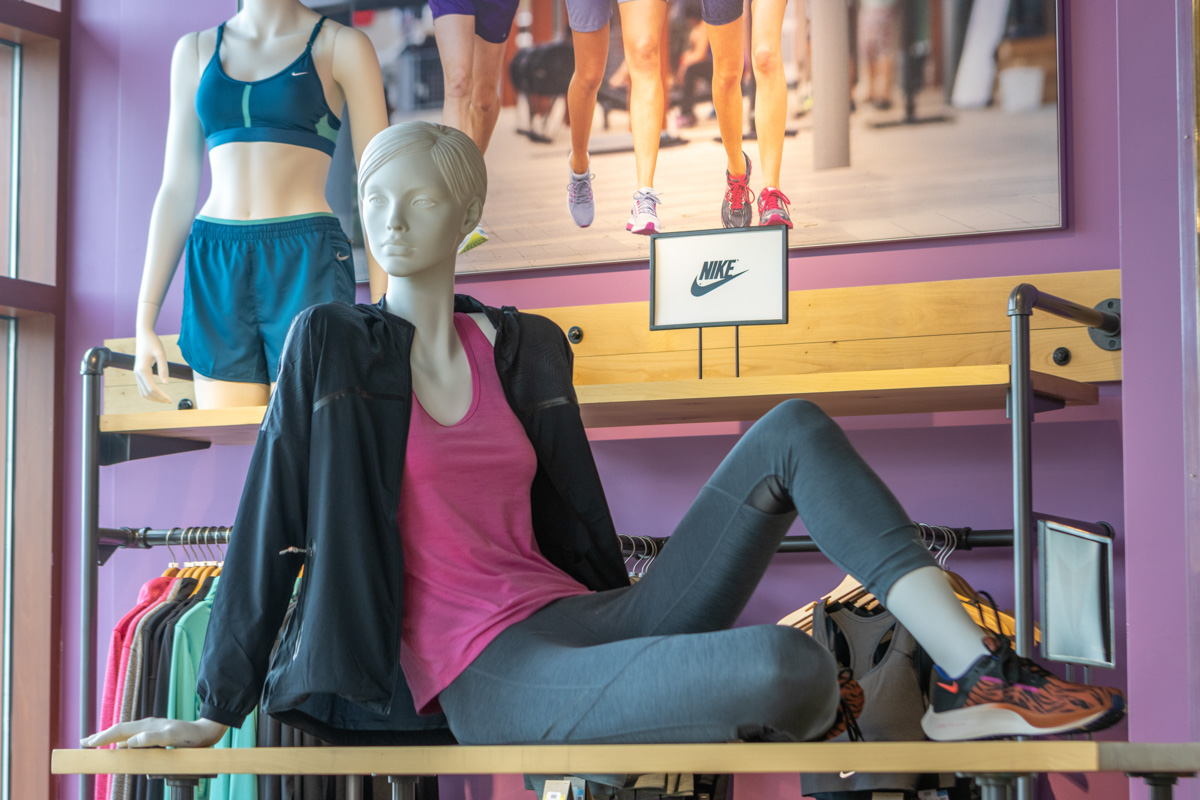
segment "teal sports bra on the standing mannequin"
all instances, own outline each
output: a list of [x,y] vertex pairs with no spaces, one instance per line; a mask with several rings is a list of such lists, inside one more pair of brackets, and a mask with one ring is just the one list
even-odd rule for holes
[[221,66],[221,23],[212,58],[196,88],[196,114],[210,150],[228,142],[278,142],[334,154],[342,121],[325,101],[325,88],[312,60],[312,43],[325,19],[317,20],[295,61],[262,80],[235,80],[226,74]]

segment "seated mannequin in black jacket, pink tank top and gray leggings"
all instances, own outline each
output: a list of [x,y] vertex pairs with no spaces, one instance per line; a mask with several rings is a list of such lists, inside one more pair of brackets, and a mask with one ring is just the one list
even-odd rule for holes
[[317,735],[404,706],[444,711],[463,744],[827,738],[852,722],[846,670],[794,628],[731,627],[798,515],[938,664],[931,738],[1123,716],[1120,692],[1050,676],[976,627],[810,403],[743,435],[629,585],[562,331],[454,294],[486,197],[479,150],[406,122],[371,142],[359,180],[388,291],[296,318],[212,608],[203,718],[127,722],[84,746],[206,746],[258,704]]

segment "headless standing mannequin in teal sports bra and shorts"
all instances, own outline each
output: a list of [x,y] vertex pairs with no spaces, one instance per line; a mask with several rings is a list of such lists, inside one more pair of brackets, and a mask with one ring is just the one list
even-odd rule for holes
[[[170,401],[151,371],[167,383],[155,325],[181,255],[180,348],[199,408],[265,405],[292,318],[317,302],[354,302],[350,245],[325,200],[343,103],[358,161],[388,124],[374,48],[299,0],[245,0],[228,23],[175,44],[138,295],[143,397]],[[205,144],[212,182],[197,217]],[[368,266],[379,297],[386,276]]]

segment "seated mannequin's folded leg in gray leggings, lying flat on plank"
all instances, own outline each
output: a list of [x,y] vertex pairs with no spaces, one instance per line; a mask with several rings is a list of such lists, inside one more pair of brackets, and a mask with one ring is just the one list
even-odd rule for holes
[[560,600],[500,633],[439,696],[458,741],[808,740],[833,724],[838,666],[806,633],[756,625],[600,642],[589,626],[604,624],[612,594]]

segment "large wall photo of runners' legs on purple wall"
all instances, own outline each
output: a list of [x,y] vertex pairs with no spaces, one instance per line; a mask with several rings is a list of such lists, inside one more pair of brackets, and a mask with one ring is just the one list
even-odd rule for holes
[[466,272],[1062,225],[1056,0],[398,0],[353,24],[392,122],[467,132]]

